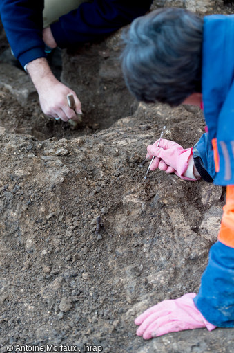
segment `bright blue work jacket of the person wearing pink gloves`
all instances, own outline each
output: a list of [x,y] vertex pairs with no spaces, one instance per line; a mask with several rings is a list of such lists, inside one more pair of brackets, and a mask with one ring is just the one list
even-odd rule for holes
[[[234,185],[233,79],[234,15],[204,17],[202,100],[208,134],[195,145],[193,157],[195,165],[199,162],[216,185]],[[220,160],[218,172],[215,172],[211,146],[213,139],[217,141]],[[211,247],[208,266],[194,302],[213,325],[234,327],[234,248],[221,242]]]

